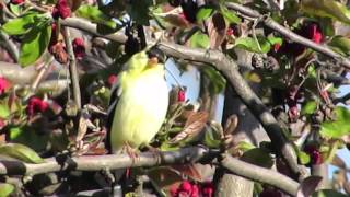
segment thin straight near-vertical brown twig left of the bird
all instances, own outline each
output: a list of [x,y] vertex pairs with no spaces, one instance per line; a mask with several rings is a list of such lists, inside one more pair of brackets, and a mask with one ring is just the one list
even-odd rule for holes
[[81,108],[81,94],[80,94],[80,86],[79,86],[79,74],[77,69],[77,61],[73,51],[72,42],[70,38],[70,33],[68,27],[62,27],[62,34],[65,38],[65,44],[67,48],[67,53],[69,54],[69,73],[70,79],[72,81],[72,89],[73,89],[73,99],[78,106],[78,108]]

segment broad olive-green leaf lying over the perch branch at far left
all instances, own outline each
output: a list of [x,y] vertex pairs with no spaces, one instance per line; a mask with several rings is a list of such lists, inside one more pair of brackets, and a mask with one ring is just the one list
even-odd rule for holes
[[0,154],[9,155],[26,163],[45,162],[34,150],[21,143],[5,143],[0,146]]

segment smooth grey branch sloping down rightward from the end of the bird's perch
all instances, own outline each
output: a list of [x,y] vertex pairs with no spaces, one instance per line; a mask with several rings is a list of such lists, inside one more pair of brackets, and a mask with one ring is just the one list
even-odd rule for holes
[[232,158],[230,154],[224,154],[220,164],[236,175],[267,183],[292,196],[295,196],[298,193],[299,184],[276,171],[243,162],[236,158]]

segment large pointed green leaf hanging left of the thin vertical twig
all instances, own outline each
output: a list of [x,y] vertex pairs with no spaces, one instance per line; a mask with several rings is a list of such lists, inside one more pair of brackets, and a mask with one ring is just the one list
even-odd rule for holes
[[45,21],[38,23],[25,34],[21,46],[20,63],[24,67],[34,63],[46,50],[50,40],[51,26]]

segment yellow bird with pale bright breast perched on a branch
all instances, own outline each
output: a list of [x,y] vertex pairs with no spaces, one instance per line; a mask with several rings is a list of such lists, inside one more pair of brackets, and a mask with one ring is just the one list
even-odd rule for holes
[[119,100],[110,130],[113,153],[125,147],[137,149],[148,144],[160,130],[168,107],[164,73],[164,65],[144,50],[126,63],[117,82]]

